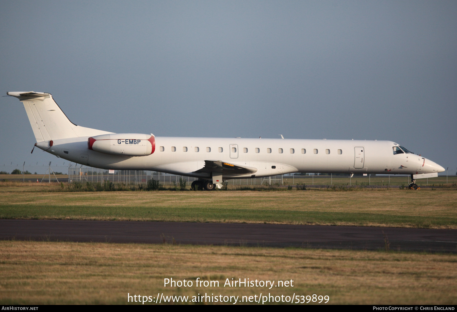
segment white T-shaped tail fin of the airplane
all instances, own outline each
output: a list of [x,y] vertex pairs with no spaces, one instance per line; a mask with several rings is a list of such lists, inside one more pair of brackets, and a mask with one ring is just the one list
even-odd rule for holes
[[24,104],[37,142],[112,133],[73,124],[50,93],[29,91],[6,94],[17,97]]

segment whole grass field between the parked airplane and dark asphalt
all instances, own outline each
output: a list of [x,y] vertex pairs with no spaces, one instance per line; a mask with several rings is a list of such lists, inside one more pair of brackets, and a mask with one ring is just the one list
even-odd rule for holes
[[0,187],[2,219],[457,228],[455,187],[420,191],[362,188],[352,192],[47,192],[59,186],[8,185]]

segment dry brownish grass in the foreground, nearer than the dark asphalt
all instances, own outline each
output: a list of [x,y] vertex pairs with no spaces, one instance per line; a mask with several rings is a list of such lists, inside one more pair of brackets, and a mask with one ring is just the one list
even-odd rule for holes
[[[0,304],[125,304],[127,293],[208,293],[239,300],[295,293],[329,296],[328,304],[457,303],[452,254],[16,241],[0,241],[0,250]],[[196,287],[197,277],[218,280],[219,287]],[[164,278],[193,280],[193,286],[164,287]],[[224,287],[227,278],[293,280],[294,286]]]

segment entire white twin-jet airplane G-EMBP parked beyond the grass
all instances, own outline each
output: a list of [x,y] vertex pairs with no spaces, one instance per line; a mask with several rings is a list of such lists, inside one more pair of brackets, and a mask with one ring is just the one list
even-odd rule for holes
[[[228,179],[292,172],[409,174],[437,177],[445,169],[392,141],[156,137],[73,124],[49,93],[7,92],[26,109],[35,146],[86,166],[150,170],[198,178],[192,187],[221,188]],[[33,150],[32,150],[33,151]]]

